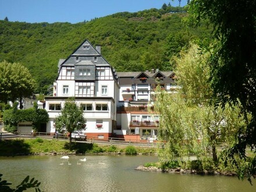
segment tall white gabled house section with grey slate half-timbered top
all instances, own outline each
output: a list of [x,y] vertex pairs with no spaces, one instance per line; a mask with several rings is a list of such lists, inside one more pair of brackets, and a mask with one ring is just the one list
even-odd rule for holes
[[67,59],[59,61],[53,97],[46,97],[47,131],[55,132],[55,119],[67,98],[83,106],[87,136],[109,137],[116,125],[119,86],[115,70],[102,57],[101,48],[84,41]]

